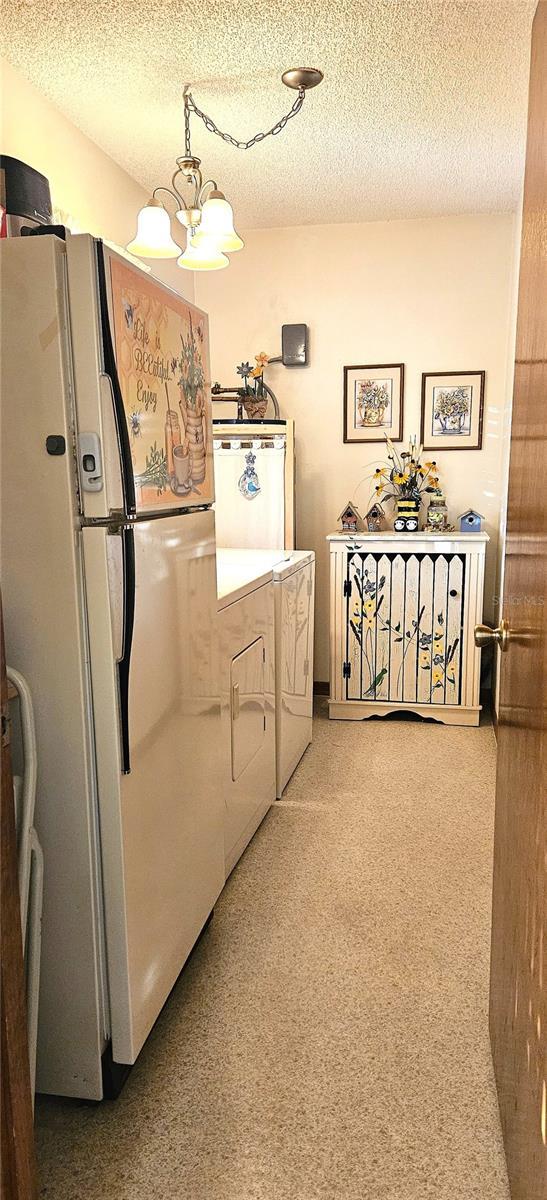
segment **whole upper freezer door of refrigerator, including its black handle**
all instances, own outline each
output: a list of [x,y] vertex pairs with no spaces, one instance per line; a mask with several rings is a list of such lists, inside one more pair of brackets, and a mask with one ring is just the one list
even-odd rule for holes
[[79,454],[82,508],[157,515],[215,499],[209,322],[86,234],[67,244],[78,428],[96,433],[102,485]]

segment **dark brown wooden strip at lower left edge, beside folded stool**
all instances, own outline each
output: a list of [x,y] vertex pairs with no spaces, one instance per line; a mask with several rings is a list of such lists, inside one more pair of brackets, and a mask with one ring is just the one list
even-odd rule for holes
[[25,1019],[16,817],[7,725],[7,682],[0,605],[1,684],[1,1200],[34,1200],[36,1166],[32,1140],[29,1050]]

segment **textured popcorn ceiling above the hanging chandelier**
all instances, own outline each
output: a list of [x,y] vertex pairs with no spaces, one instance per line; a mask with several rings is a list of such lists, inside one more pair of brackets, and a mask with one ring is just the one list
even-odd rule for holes
[[[512,209],[535,0],[11,0],[4,53],[146,187],[184,150],[181,94],[238,138],[324,83],[246,152],[192,118],[241,228]],[[100,186],[100,180],[97,180]]]

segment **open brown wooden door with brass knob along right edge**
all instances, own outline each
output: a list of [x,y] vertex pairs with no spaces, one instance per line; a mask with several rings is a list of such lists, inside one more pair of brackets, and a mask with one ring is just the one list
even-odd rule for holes
[[503,616],[489,1026],[512,1200],[546,1200],[547,0],[533,30]]

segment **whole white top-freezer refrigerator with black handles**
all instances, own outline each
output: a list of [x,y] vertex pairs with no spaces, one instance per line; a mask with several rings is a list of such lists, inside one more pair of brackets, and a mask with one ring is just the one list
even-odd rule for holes
[[1,244],[2,596],[37,725],[37,1090],[136,1061],[224,880],[208,319],[88,235]]

